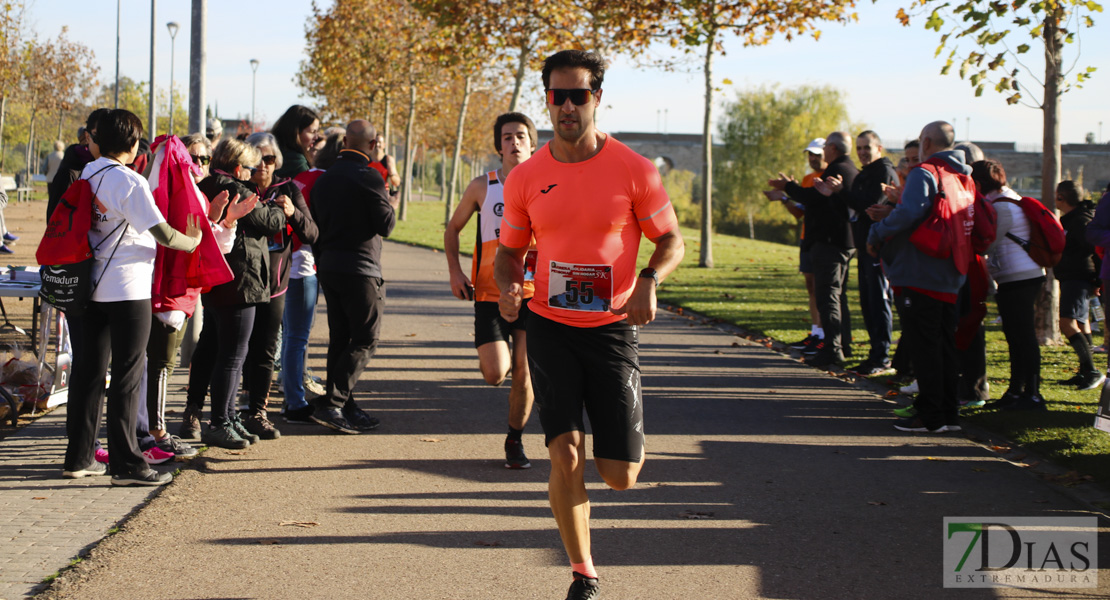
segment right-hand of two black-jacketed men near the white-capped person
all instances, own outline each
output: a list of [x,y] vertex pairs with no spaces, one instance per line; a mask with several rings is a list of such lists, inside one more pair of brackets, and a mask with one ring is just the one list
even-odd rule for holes
[[867,210],[886,201],[884,184],[897,185],[898,171],[890,159],[882,155],[882,140],[871,130],[856,138],[856,155],[859,156],[859,175],[851,184],[849,207],[856,213],[851,233],[856,238],[859,276],[859,312],[870,338],[871,349],[859,364],[856,373],[866,376],[878,375],[890,368],[890,338],[892,329],[894,294],[890,283],[882,273],[882,264],[877,256],[867,253],[867,236],[875,221]]

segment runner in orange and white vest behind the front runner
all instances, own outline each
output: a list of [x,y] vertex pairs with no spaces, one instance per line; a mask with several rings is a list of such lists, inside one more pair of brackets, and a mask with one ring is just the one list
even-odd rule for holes
[[[501,235],[501,215],[505,177],[516,165],[528,160],[536,151],[536,125],[518,112],[502,114],[493,124],[493,145],[501,154],[501,169],[478,175],[463,192],[455,214],[443,232],[443,247],[451,272],[451,292],[458,299],[474,301],[474,347],[478,350],[478,368],[486,383],[500,386],[513,369],[508,390],[508,435],[505,437],[505,468],[532,467],[524,454],[521,434],[532,413],[532,379],[528,376],[528,356],[525,350],[524,327],[527,324],[527,298],[532,297],[531,272],[525,275],[522,318],[507,323],[497,309],[497,283],[493,278],[493,260],[497,254]],[[458,233],[466,227],[471,215],[478,214],[478,235],[474,247],[471,279],[463,274],[458,263]],[[508,340],[513,348],[509,355]]]

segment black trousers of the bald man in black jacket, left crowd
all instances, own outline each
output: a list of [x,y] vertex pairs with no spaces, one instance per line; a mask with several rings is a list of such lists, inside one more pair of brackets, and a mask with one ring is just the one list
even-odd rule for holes
[[380,277],[321,272],[327,302],[327,386],[317,406],[342,408],[377,349],[385,312],[385,282]]

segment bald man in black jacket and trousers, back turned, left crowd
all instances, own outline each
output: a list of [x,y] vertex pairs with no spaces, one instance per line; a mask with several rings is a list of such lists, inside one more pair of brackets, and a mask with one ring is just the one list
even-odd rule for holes
[[320,228],[312,253],[329,329],[326,393],[316,399],[312,420],[344,434],[379,425],[352,395],[377,348],[385,309],[382,238],[396,224],[396,202],[370,166],[375,133],[369,121],[351,122],[344,150],[312,187],[312,217]]

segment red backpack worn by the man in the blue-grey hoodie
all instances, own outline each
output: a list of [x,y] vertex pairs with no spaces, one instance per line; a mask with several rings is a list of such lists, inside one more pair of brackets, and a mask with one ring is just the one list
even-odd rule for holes
[[[952,171],[942,159],[929,159],[918,169],[932,174],[937,181],[937,195],[932,199],[932,211],[914,230],[909,241],[927,256],[951,258],[956,270],[967,274],[971,255],[981,245],[980,238],[989,235],[993,241],[993,227],[990,226],[993,215],[978,210],[986,203],[976,202],[971,177]],[[975,242],[972,237],[976,237]]]

